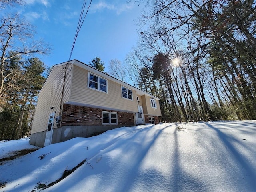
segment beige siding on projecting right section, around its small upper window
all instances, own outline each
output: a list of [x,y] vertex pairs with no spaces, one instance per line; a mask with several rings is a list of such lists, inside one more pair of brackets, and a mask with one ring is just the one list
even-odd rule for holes
[[161,110],[160,110],[160,105],[159,101],[156,100],[156,109],[151,107],[151,102],[150,98],[147,95],[142,95],[142,107],[143,107],[143,112],[145,115],[150,115],[150,116],[161,116]]

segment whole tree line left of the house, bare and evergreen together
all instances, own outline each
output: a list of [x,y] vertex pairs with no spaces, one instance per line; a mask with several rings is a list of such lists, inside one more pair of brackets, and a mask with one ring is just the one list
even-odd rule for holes
[[[0,9],[21,0],[0,0]],[[34,54],[49,46],[33,39],[34,27],[19,14],[0,18],[0,140],[29,136],[36,96],[46,80],[46,67]]]

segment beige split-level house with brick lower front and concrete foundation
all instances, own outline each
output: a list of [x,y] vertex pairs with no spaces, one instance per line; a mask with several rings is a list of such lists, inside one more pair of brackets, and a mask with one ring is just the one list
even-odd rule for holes
[[78,60],[53,66],[38,101],[30,144],[47,146],[122,126],[158,124],[159,98]]

